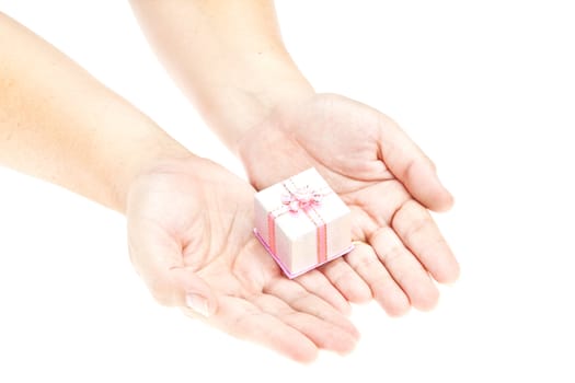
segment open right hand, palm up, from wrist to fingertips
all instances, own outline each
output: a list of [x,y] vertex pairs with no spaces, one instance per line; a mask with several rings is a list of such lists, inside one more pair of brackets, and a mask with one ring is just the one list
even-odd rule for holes
[[410,303],[432,309],[438,282],[459,266],[426,208],[452,197],[434,164],[383,114],[352,100],[317,94],[278,108],[238,143],[250,181],[261,189],[310,166],[350,207],[356,249],[322,268],[350,301],[373,297],[391,315]]

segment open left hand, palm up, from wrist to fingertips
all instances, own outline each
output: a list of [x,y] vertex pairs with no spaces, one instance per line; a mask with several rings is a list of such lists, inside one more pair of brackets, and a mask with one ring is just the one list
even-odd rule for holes
[[127,204],[137,271],[161,303],[298,361],[349,351],[358,333],[340,312],[347,302],[320,272],[306,282],[280,274],[252,233],[253,194],[197,158],[143,172]]

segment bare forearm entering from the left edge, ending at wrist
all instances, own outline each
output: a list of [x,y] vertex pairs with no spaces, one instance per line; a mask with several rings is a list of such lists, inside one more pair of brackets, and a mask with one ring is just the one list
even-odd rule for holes
[[149,118],[0,13],[0,164],[124,211],[139,172],[184,153]]

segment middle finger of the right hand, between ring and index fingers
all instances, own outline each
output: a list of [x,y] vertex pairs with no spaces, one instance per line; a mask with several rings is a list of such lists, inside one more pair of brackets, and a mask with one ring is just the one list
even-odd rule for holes
[[437,287],[391,228],[378,229],[369,242],[414,307],[426,311],[437,304],[439,298]]

